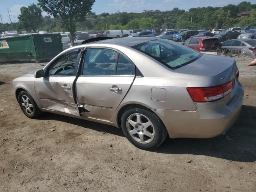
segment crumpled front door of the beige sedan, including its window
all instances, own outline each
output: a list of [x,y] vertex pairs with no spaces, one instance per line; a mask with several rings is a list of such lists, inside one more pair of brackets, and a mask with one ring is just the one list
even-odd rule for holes
[[78,55],[76,49],[60,56],[45,69],[44,77],[36,78],[36,95],[44,109],[79,116],[73,96]]

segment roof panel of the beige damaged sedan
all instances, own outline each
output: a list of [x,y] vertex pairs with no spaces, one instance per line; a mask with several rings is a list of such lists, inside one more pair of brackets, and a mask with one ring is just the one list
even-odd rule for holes
[[96,42],[92,42],[90,44],[106,43],[106,44],[120,44],[120,45],[125,45],[128,47],[132,47],[132,46],[142,44],[144,42],[152,41],[155,39],[159,39],[159,38],[156,38],[156,37],[134,37],[134,38],[124,37],[124,38],[113,38],[113,39],[96,41]]

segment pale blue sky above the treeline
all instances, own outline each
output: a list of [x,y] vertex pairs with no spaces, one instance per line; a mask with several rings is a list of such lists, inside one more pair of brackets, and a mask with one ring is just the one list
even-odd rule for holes
[[[37,4],[37,0],[0,0],[0,14],[3,22],[18,21],[17,16],[20,14],[22,6],[28,6],[32,3]],[[121,12],[143,12],[143,10],[172,10],[175,7],[189,10],[190,8],[207,7],[207,6],[226,6],[228,4],[239,4],[244,0],[95,0],[92,6],[92,12],[100,14],[102,12],[114,13]],[[256,4],[256,0],[247,0]],[[4,2],[4,3],[3,3]],[[10,18],[8,15],[10,12]],[[47,15],[45,12],[43,15]]]

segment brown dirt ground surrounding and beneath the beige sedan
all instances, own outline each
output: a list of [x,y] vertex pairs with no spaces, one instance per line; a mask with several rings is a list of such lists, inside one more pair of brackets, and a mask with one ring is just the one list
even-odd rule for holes
[[225,135],[167,139],[154,151],[135,148],[112,126],[47,113],[27,118],[11,82],[42,66],[0,65],[0,191],[256,191],[253,59],[236,58],[244,106]]

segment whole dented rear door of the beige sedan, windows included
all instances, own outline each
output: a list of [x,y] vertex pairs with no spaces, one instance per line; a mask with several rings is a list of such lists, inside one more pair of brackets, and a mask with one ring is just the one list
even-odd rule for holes
[[123,54],[107,48],[88,48],[76,81],[83,116],[110,120],[135,78],[135,66]]

